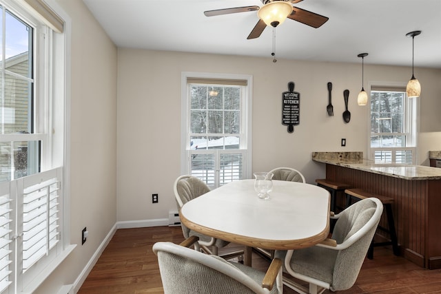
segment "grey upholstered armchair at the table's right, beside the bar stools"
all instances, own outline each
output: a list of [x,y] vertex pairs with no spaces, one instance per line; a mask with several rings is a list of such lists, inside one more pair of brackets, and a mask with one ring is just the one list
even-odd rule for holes
[[[283,283],[299,293],[322,293],[326,289],[343,291],[356,282],[383,206],[377,198],[366,198],[331,216],[337,220],[331,238],[321,244],[295,251],[276,251],[284,260],[283,270],[309,283],[309,289],[289,280]],[[320,290],[319,290],[320,289]]]

